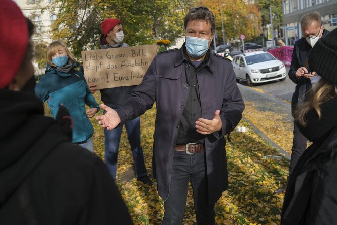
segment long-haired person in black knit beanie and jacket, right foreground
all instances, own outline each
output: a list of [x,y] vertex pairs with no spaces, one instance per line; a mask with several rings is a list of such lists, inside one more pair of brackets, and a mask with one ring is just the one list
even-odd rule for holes
[[309,67],[319,80],[297,107],[295,122],[312,142],[293,169],[281,224],[337,224],[337,29],[319,39]]

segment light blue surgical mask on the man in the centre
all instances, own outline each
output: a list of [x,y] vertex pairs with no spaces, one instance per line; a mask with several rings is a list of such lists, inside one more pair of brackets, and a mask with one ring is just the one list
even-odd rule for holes
[[186,36],[186,49],[189,52],[189,55],[193,58],[200,58],[206,54],[209,40]]

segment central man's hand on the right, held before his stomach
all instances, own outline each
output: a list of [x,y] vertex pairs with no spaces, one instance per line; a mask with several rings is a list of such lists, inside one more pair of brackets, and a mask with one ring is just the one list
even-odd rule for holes
[[222,129],[222,121],[220,118],[220,110],[215,111],[212,120],[199,118],[196,121],[197,132],[203,135],[212,134]]

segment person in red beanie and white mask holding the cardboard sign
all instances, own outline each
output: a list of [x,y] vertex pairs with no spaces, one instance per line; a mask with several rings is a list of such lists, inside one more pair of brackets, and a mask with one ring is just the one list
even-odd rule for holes
[[[101,49],[128,47],[122,43],[124,39],[123,26],[118,19],[105,19],[101,23],[102,35],[100,38]],[[95,86],[89,86],[91,91],[95,91]],[[118,109],[126,100],[131,97],[131,92],[136,86],[122,86],[114,88],[100,89],[102,102],[113,108]],[[105,111],[104,111],[105,113]],[[144,184],[153,185],[153,182],[147,176],[144,163],[144,153],[140,145],[140,117],[137,117],[125,123],[128,133],[128,139],[131,146],[131,152],[134,159],[137,180]],[[123,126],[114,130],[104,129],[105,135],[105,164],[109,168],[111,176],[116,179],[118,148],[121,140]]]

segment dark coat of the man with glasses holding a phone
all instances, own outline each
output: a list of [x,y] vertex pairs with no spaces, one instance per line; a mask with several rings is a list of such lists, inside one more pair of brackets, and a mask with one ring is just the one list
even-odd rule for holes
[[[325,37],[328,33],[329,31],[324,29],[322,37]],[[292,113],[296,109],[298,100],[301,98],[304,98],[306,91],[308,90],[309,87],[311,87],[310,79],[304,78],[304,77],[301,77],[298,80],[296,79],[296,71],[298,70],[298,68],[306,67],[308,69],[308,58],[309,58],[311,49],[312,47],[308,44],[306,39],[303,37],[295,42],[295,46],[294,46],[292,57],[291,57],[290,70],[288,73],[289,78],[292,80],[292,82],[296,84],[295,92],[293,93],[292,100],[291,100]],[[310,68],[309,68],[309,72],[312,72],[310,71]],[[304,86],[304,87],[301,88],[301,86]],[[299,92],[301,92],[301,94]]]

